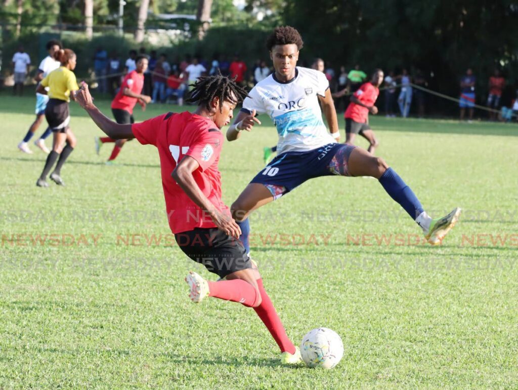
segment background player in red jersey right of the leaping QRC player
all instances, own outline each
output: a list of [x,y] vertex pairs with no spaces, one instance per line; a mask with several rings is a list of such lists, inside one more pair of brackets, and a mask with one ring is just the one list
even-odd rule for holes
[[376,69],[369,82],[362,84],[356,92],[351,95],[351,103],[347,107],[346,113],[346,143],[353,144],[356,134],[363,136],[369,142],[367,149],[374,154],[379,142],[369,126],[369,113],[378,114],[378,107],[374,105],[380,93],[380,85],[383,82],[383,71]]

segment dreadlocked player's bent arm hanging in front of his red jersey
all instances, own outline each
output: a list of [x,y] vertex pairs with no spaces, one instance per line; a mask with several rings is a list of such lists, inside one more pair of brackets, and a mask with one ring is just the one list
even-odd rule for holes
[[193,172],[199,168],[199,163],[191,156],[184,156],[175,170],[172,171],[171,177],[175,179],[176,183],[182,188],[189,198],[192,199],[212,218],[214,225],[218,229],[224,231],[226,234],[238,239],[241,235],[241,229],[236,224],[236,221],[231,216],[221,213],[204,195],[202,190],[198,187],[196,180],[194,180]]

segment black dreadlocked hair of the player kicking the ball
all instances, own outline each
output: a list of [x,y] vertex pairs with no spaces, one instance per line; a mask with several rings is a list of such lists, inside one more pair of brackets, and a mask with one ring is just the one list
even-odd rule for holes
[[223,76],[221,73],[198,77],[198,80],[190,86],[193,89],[189,93],[189,97],[185,99],[186,102],[197,102],[199,106],[204,104],[210,111],[210,102],[215,96],[218,96],[220,113],[225,100],[232,104],[239,104],[248,96],[247,91],[238,86],[234,78]]

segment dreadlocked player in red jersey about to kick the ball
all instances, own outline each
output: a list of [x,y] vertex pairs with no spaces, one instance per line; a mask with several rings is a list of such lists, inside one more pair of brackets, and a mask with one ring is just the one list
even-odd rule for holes
[[200,77],[193,87],[187,101],[198,103],[194,113],[168,113],[135,124],[105,117],[84,83],[77,101],[111,138],[137,138],[158,149],[169,227],[187,256],[222,278],[209,282],[190,272],[185,281],[191,299],[215,297],[253,308],[279,345],[282,363],[298,364],[300,351],[287,337],[260,273],[238,240],[239,226],[221,200],[220,130],[247,92],[222,75]]

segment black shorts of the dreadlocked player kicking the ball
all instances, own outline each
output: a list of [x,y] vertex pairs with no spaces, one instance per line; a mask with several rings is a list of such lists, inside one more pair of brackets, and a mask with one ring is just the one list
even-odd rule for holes
[[241,241],[218,228],[196,228],[175,234],[183,253],[219,277],[252,268],[252,262]]

